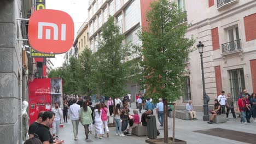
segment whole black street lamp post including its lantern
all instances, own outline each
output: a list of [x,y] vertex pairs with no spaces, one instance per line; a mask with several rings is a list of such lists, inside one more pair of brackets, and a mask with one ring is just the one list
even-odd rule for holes
[[205,92],[205,74],[203,73],[203,44],[199,41],[199,44],[196,45],[201,57],[201,69],[202,69],[202,86],[203,86],[203,121],[209,121],[209,110],[208,110],[208,102],[210,101],[210,97]]

